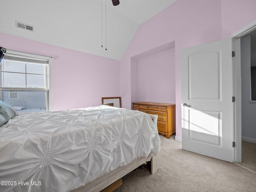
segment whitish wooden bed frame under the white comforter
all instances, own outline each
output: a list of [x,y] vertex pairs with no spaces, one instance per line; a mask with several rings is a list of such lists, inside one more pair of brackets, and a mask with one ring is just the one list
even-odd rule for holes
[[[152,118],[154,125],[157,128],[158,116],[152,115],[152,114],[149,114],[149,115]],[[104,190],[105,188],[107,188],[108,186],[110,186],[111,184],[113,184],[114,182],[116,182],[117,180],[119,180],[120,178],[122,178],[123,176],[130,173],[131,171],[133,171],[134,169],[136,169],[137,167],[141,166],[142,164],[144,164],[149,160],[151,161],[150,163],[151,174],[154,174],[157,170],[156,156],[152,156],[151,159],[150,157],[140,157],[140,158],[136,158],[126,166],[118,167],[117,169],[99,177],[98,179],[82,187],[72,190],[72,192],[100,192],[101,190]]]

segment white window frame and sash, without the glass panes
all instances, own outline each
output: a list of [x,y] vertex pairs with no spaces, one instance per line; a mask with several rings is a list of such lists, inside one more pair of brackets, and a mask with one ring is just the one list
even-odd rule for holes
[[[52,75],[51,75],[51,66],[52,66],[52,57],[30,54],[25,52],[18,52],[13,50],[6,50],[5,55],[17,55],[18,58],[32,58],[35,60],[48,60],[48,64],[46,65],[46,88],[14,88],[14,87],[2,87],[2,69],[0,72],[0,100],[2,100],[2,91],[45,91],[46,92],[46,111],[50,111],[52,109],[52,91],[51,91],[51,82],[52,82]],[[4,56],[5,57],[5,56]],[[3,58],[4,60],[4,58]],[[8,60],[8,59],[7,59]],[[3,61],[1,61],[3,62]]]

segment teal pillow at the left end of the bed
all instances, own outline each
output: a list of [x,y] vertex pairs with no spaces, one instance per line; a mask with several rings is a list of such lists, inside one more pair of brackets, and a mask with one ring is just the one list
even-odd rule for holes
[[6,124],[11,118],[18,115],[16,109],[0,100],[0,126]]

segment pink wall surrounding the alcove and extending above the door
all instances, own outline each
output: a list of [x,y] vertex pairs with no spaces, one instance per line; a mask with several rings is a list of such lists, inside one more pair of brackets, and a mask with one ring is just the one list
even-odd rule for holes
[[[181,138],[182,48],[227,38],[256,19],[254,0],[178,0],[137,30],[120,61],[122,106],[131,106],[131,70],[133,56],[168,42],[175,42],[176,136]],[[171,86],[170,86],[171,87]]]

